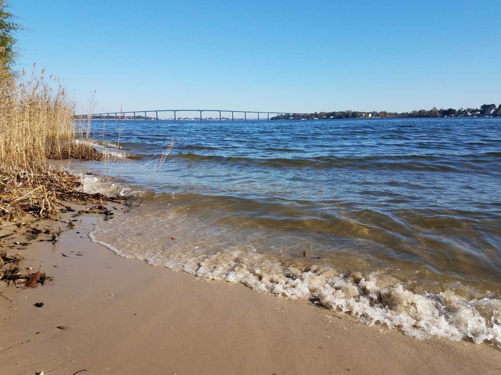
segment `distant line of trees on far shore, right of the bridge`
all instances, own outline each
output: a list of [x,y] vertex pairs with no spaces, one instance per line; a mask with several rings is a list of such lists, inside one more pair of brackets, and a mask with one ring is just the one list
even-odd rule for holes
[[272,120],[283,119],[301,119],[301,118],[358,118],[358,117],[458,117],[458,116],[493,116],[501,117],[501,104],[482,104],[480,108],[440,108],[436,107],[420,110],[413,110],[412,112],[387,112],[372,111],[360,112],[358,110],[343,110],[332,112],[314,112],[314,113],[284,113],[278,116],[271,117]]

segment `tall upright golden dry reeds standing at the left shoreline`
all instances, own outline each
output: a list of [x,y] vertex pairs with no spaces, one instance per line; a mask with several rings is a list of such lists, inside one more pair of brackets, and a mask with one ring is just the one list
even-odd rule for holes
[[89,137],[90,125],[77,124],[66,88],[44,72],[0,83],[0,165],[30,170],[48,158],[99,159],[92,146],[77,141]]

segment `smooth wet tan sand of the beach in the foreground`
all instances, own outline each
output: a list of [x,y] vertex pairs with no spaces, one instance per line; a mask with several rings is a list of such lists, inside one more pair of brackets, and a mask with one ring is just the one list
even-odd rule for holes
[[418,340],[306,301],[119,257],[89,240],[95,222],[83,216],[55,245],[23,250],[23,265],[42,265],[51,284],[0,285],[14,300],[0,298],[0,373],[501,373],[501,350],[488,344]]

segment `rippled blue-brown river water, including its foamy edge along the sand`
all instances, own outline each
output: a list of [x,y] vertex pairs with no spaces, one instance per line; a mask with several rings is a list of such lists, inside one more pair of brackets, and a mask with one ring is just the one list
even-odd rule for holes
[[501,119],[92,127],[128,157],[84,167],[130,191],[177,141],[155,194],[94,231],[117,253],[418,337],[501,342]]

